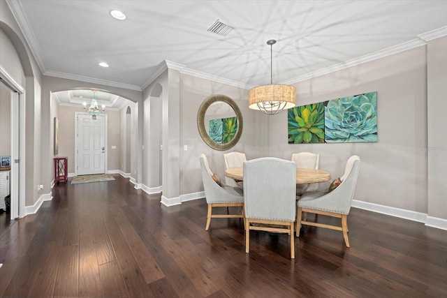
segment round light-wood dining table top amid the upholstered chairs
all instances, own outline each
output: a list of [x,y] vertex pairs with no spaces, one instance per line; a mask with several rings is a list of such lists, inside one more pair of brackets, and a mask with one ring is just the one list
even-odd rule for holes
[[[244,180],[243,167],[230,167],[225,170],[225,176],[235,180]],[[296,168],[296,184],[310,184],[325,182],[330,180],[330,174],[323,170],[307,169],[303,167]]]

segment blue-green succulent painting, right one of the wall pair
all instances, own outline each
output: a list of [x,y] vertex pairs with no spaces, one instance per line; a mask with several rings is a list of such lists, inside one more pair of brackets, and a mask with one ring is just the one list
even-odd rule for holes
[[325,142],[377,142],[377,92],[329,100]]

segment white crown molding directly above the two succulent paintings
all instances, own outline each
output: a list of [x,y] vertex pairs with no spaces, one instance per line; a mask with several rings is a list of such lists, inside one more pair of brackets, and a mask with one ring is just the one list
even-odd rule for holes
[[426,43],[423,40],[413,39],[406,43],[401,43],[400,45],[395,45],[393,47],[387,47],[384,50],[373,52],[371,54],[367,54],[365,56],[358,57],[356,59],[351,59],[346,62],[342,62],[340,64],[335,64],[335,65],[329,66],[327,68],[322,68],[322,69],[316,70],[312,73],[306,73],[305,75],[300,75],[299,77],[295,77],[291,80],[283,81],[283,82],[281,82],[281,84],[295,84],[295,83],[302,82],[305,80],[310,80],[310,79],[313,79],[314,77],[319,77],[321,75],[327,75],[328,73],[334,73],[335,71],[338,71],[338,70],[350,68],[352,66],[356,66],[359,64],[364,64],[369,61],[387,57],[392,54],[397,54],[399,52],[404,52],[406,50],[411,50],[415,47],[420,47],[423,45],[426,45]]

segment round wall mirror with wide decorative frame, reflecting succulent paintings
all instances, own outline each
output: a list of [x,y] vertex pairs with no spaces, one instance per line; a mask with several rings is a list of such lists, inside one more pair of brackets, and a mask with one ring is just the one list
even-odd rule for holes
[[223,151],[235,146],[242,135],[243,125],[239,107],[228,96],[208,96],[198,109],[198,132],[212,149]]

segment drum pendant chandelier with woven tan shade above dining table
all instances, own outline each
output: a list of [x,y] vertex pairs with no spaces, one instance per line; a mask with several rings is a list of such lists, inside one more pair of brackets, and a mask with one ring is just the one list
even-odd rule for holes
[[272,45],[277,40],[267,41],[270,45],[270,84],[258,86],[249,91],[249,108],[261,110],[265,114],[277,114],[277,112],[295,107],[296,89],[293,86],[273,84],[272,75]]

